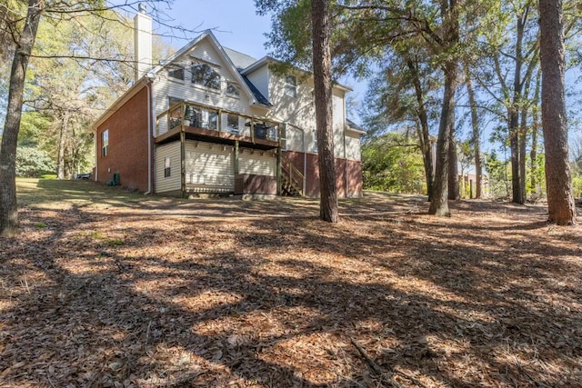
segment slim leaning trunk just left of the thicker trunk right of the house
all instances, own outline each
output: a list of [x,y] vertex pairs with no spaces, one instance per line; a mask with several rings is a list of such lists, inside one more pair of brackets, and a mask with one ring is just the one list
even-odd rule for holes
[[422,152],[422,161],[425,166],[426,176],[426,194],[428,195],[428,202],[432,200],[433,183],[435,180],[435,169],[433,166],[433,144],[428,133],[428,114],[426,114],[425,94],[420,85],[420,78],[418,69],[412,59],[406,61],[408,70],[412,75],[413,84],[416,91],[416,104],[418,104],[418,122],[420,130],[418,131],[418,140],[420,141],[420,148]]

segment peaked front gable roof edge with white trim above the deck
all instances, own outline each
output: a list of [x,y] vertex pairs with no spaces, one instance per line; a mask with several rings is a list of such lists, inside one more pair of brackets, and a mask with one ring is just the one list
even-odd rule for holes
[[[272,104],[270,104],[268,102],[268,100],[266,99],[266,97],[264,95],[261,95],[261,93],[256,89],[256,87],[254,85],[252,87],[250,86],[252,84],[248,81],[248,79],[246,79],[245,76],[243,76],[240,73],[237,66],[233,63],[233,60],[231,59],[231,57],[226,54],[225,48],[222,45],[220,45],[220,43],[218,43],[216,36],[210,30],[206,30],[201,35],[198,35],[193,41],[191,41],[190,43],[188,43],[187,45],[185,45],[184,47],[182,47],[181,49],[176,51],[176,53],[174,53],[173,55],[170,55],[166,60],[161,61],[160,65],[157,65],[152,70],[147,72],[146,76],[156,75],[157,73],[162,71],[167,65],[171,65],[174,61],[176,61],[177,58],[179,58],[182,55],[185,55],[187,52],[192,50],[198,43],[200,43],[202,40],[204,40],[206,38],[208,38],[210,40],[210,42],[215,46],[216,51],[218,52],[218,55],[221,55],[222,59],[226,62],[226,65],[228,65],[230,67],[231,72],[236,76],[238,83],[246,91],[246,94],[249,95],[250,97],[252,97],[256,104],[262,104],[262,105],[265,105],[267,107],[273,106]],[[245,61],[248,61],[249,59],[247,59],[247,58],[254,59],[248,55],[244,55],[242,53],[235,52],[234,50],[230,50],[230,49],[228,49],[228,50],[231,53],[237,54],[237,55],[234,55],[236,57],[237,63],[243,63]],[[245,57],[247,57],[247,58],[245,58]]]

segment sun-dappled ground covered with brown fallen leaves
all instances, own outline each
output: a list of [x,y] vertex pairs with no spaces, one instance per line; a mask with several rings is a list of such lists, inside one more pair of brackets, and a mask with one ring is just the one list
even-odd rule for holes
[[19,189],[0,386],[582,384],[582,228],[543,207]]

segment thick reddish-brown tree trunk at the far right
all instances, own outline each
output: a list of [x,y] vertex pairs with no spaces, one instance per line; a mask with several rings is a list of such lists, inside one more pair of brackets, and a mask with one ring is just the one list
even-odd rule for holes
[[562,1],[539,0],[539,15],[548,221],[558,225],[576,224],[568,163]]

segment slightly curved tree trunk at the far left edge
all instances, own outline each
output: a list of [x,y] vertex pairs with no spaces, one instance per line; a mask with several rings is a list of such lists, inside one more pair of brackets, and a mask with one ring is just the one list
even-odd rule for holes
[[29,55],[35,45],[36,31],[43,6],[43,2],[38,0],[28,0],[25,25],[12,61],[8,107],[0,147],[0,234],[14,234],[18,230],[16,147],[22,117],[26,68],[28,67]]

